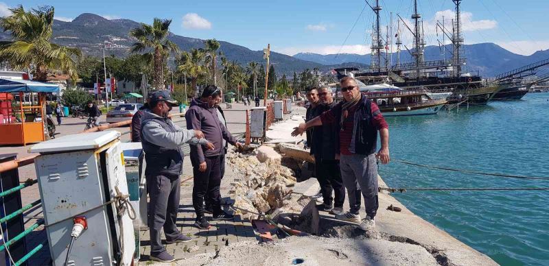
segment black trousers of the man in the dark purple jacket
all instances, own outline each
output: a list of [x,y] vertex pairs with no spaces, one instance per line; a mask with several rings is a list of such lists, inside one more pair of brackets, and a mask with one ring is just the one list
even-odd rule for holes
[[204,199],[208,200],[213,208],[213,215],[221,213],[221,156],[210,156],[205,158],[206,171],[198,171],[198,165],[193,167],[193,206],[196,217],[204,215]]

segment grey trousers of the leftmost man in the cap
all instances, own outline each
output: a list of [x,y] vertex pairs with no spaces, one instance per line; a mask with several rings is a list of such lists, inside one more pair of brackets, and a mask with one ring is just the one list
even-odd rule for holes
[[179,177],[146,176],[145,178],[150,196],[148,218],[150,254],[157,255],[165,251],[160,239],[162,228],[164,228],[166,239],[179,237],[176,219],[181,186]]

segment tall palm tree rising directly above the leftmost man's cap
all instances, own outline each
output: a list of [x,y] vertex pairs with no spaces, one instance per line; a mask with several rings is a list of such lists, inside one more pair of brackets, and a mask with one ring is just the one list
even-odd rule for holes
[[130,36],[136,38],[137,41],[132,45],[130,53],[146,53],[152,54],[154,65],[152,85],[157,90],[163,90],[164,71],[163,66],[165,59],[171,53],[179,51],[177,45],[167,39],[170,34],[171,19],[154,18],[152,25],[141,23],[141,27],[136,27],[130,31]]

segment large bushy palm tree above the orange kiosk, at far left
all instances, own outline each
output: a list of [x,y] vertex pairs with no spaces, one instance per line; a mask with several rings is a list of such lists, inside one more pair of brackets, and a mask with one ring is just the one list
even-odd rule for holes
[[45,81],[48,71],[62,71],[76,80],[80,49],[49,42],[54,32],[54,8],[44,5],[25,11],[19,5],[10,11],[10,16],[0,19],[0,27],[12,36],[12,40],[0,42],[0,58],[16,70],[34,67],[34,80]]

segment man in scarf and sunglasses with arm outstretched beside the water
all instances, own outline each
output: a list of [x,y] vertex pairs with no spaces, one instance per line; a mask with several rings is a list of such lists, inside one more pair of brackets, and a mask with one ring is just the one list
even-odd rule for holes
[[[340,169],[349,197],[349,212],[336,215],[337,219],[360,223],[362,230],[375,228],[374,217],[379,206],[377,200],[377,162],[387,164],[389,157],[389,130],[377,104],[360,93],[352,77],[340,80],[344,101],[334,108],[294,129],[292,136],[303,134],[308,128],[335,123],[340,129],[336,135],[336,152],[340,153]],[[377,131],[382,147],[375,154]],[[360,193],[364,196],[366,219],[360,222]]]

